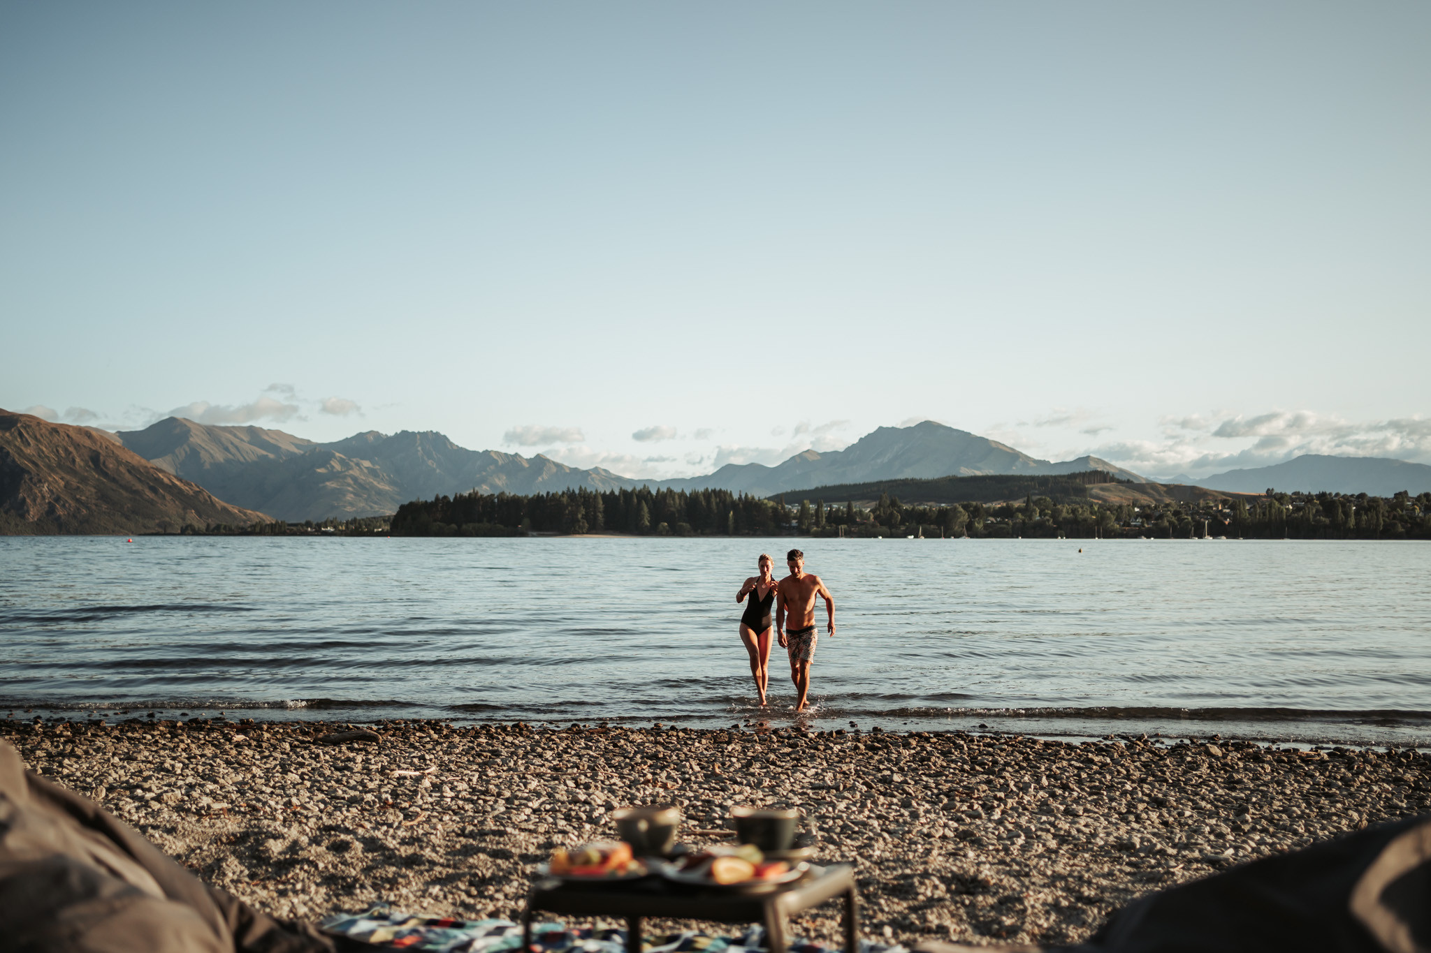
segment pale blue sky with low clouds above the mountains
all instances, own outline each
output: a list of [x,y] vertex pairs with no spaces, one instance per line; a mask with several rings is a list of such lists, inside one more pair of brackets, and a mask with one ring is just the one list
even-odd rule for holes
[[0,407],[1431,463],[1431,4],[0,0]]

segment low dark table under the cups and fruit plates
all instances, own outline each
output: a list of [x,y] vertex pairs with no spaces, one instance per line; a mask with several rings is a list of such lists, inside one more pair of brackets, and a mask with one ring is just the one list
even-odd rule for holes
[[859,897],[854,892],[854,867],[830,864],[814,867],[814,876],[767,893],[730,890],[691,890],[681,884],[647,879],[625,889],[612,884],[568,886],[560,880],[539,880],[532,886],[522,912],[522,950],[531,950],[532,913],[568,913],[577,916],[625,917],[627,950],[641,953],[641,917],[716,920],[717,923],[763,923],[770,953],[786,953],[791,913],[817,907],[844,896],[844,949],[859,953]]

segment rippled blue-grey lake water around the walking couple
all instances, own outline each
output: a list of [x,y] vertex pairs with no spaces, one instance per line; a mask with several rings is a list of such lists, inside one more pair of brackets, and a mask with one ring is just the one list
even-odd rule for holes
[[1431,743],[1431,544],[1365,542],[0,537],[0,717],[790,723],[791,544],[813,727]]

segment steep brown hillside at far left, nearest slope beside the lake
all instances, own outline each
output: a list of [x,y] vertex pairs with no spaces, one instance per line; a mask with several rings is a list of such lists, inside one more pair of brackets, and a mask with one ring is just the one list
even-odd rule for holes
[[89,427],[0,410],[0,533],[176,533],[186,523],[266,520]]

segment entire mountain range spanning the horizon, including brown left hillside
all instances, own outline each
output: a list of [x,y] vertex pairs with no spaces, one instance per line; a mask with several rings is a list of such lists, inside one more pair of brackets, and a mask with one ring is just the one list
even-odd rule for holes
[[[1181,500],[1183,490],[1205,493],[1152,483],[1098,457],[1040,460],[929,420],[880,427],[844,450],[806,450],[777,466],[728,464],[705,476],[657,482],[601,467],[582,470],[542,454],[468,450],[435,431],[369,430],[316,443],[282,430],[167,417],[143,430],[110,433],[0,410],[0,533],[176,532],[186,523],[381,516],[409,500],[471,490],[529,494],[645,484],[768,497],[880,480],[1086,470],[1129,482],[1092,487],[1089,494],[1098,497]],[[1234,493],[1261,493],[1271,486],[1390,496],[1431,490],[1431,467],[1377,457],[1304,456],[1195,483]]]

